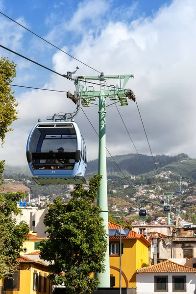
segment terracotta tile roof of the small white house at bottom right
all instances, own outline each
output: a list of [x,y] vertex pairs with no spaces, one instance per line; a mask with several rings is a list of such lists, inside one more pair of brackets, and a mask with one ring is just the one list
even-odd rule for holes
[[136,270],[136,273],[141,272],[196,272],[196,269],[179,265],[168,259],[154,266]]

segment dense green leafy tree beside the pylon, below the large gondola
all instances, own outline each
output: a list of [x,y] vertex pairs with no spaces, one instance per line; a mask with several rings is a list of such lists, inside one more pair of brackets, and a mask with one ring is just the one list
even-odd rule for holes
[[44,219],[49,239],[39,244],[40,258],[49,262],[48,278],[64,283],[68,293],[95,291],[98,279],[89,275],[104,271],[107,237],[95,204],[100,179],[98,174],[89,179],[89,190],[76,186],[66,204],[56,198]]

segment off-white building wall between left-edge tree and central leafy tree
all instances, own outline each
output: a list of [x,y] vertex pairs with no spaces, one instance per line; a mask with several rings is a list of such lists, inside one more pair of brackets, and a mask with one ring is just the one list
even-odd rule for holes
[[[22,212],[16,216],[16,221],[26,221],[29,225],[29,230],[37,232],[37,236],[46,237],[44,233],[46,231],[46,226],[44,224],[44,217],[47,213],[47,209],[38,209],[35,207],[20,207]],[[32,221],[35,220],[35,226],[32,225]]]

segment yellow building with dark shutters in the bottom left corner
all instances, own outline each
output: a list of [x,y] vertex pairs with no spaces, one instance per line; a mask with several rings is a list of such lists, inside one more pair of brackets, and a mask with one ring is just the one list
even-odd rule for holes
[[13,279],[4,279],[4,294],[45,294],[51,292],[51,283],[47,265],[21,256],[19,269],[12,275]]

